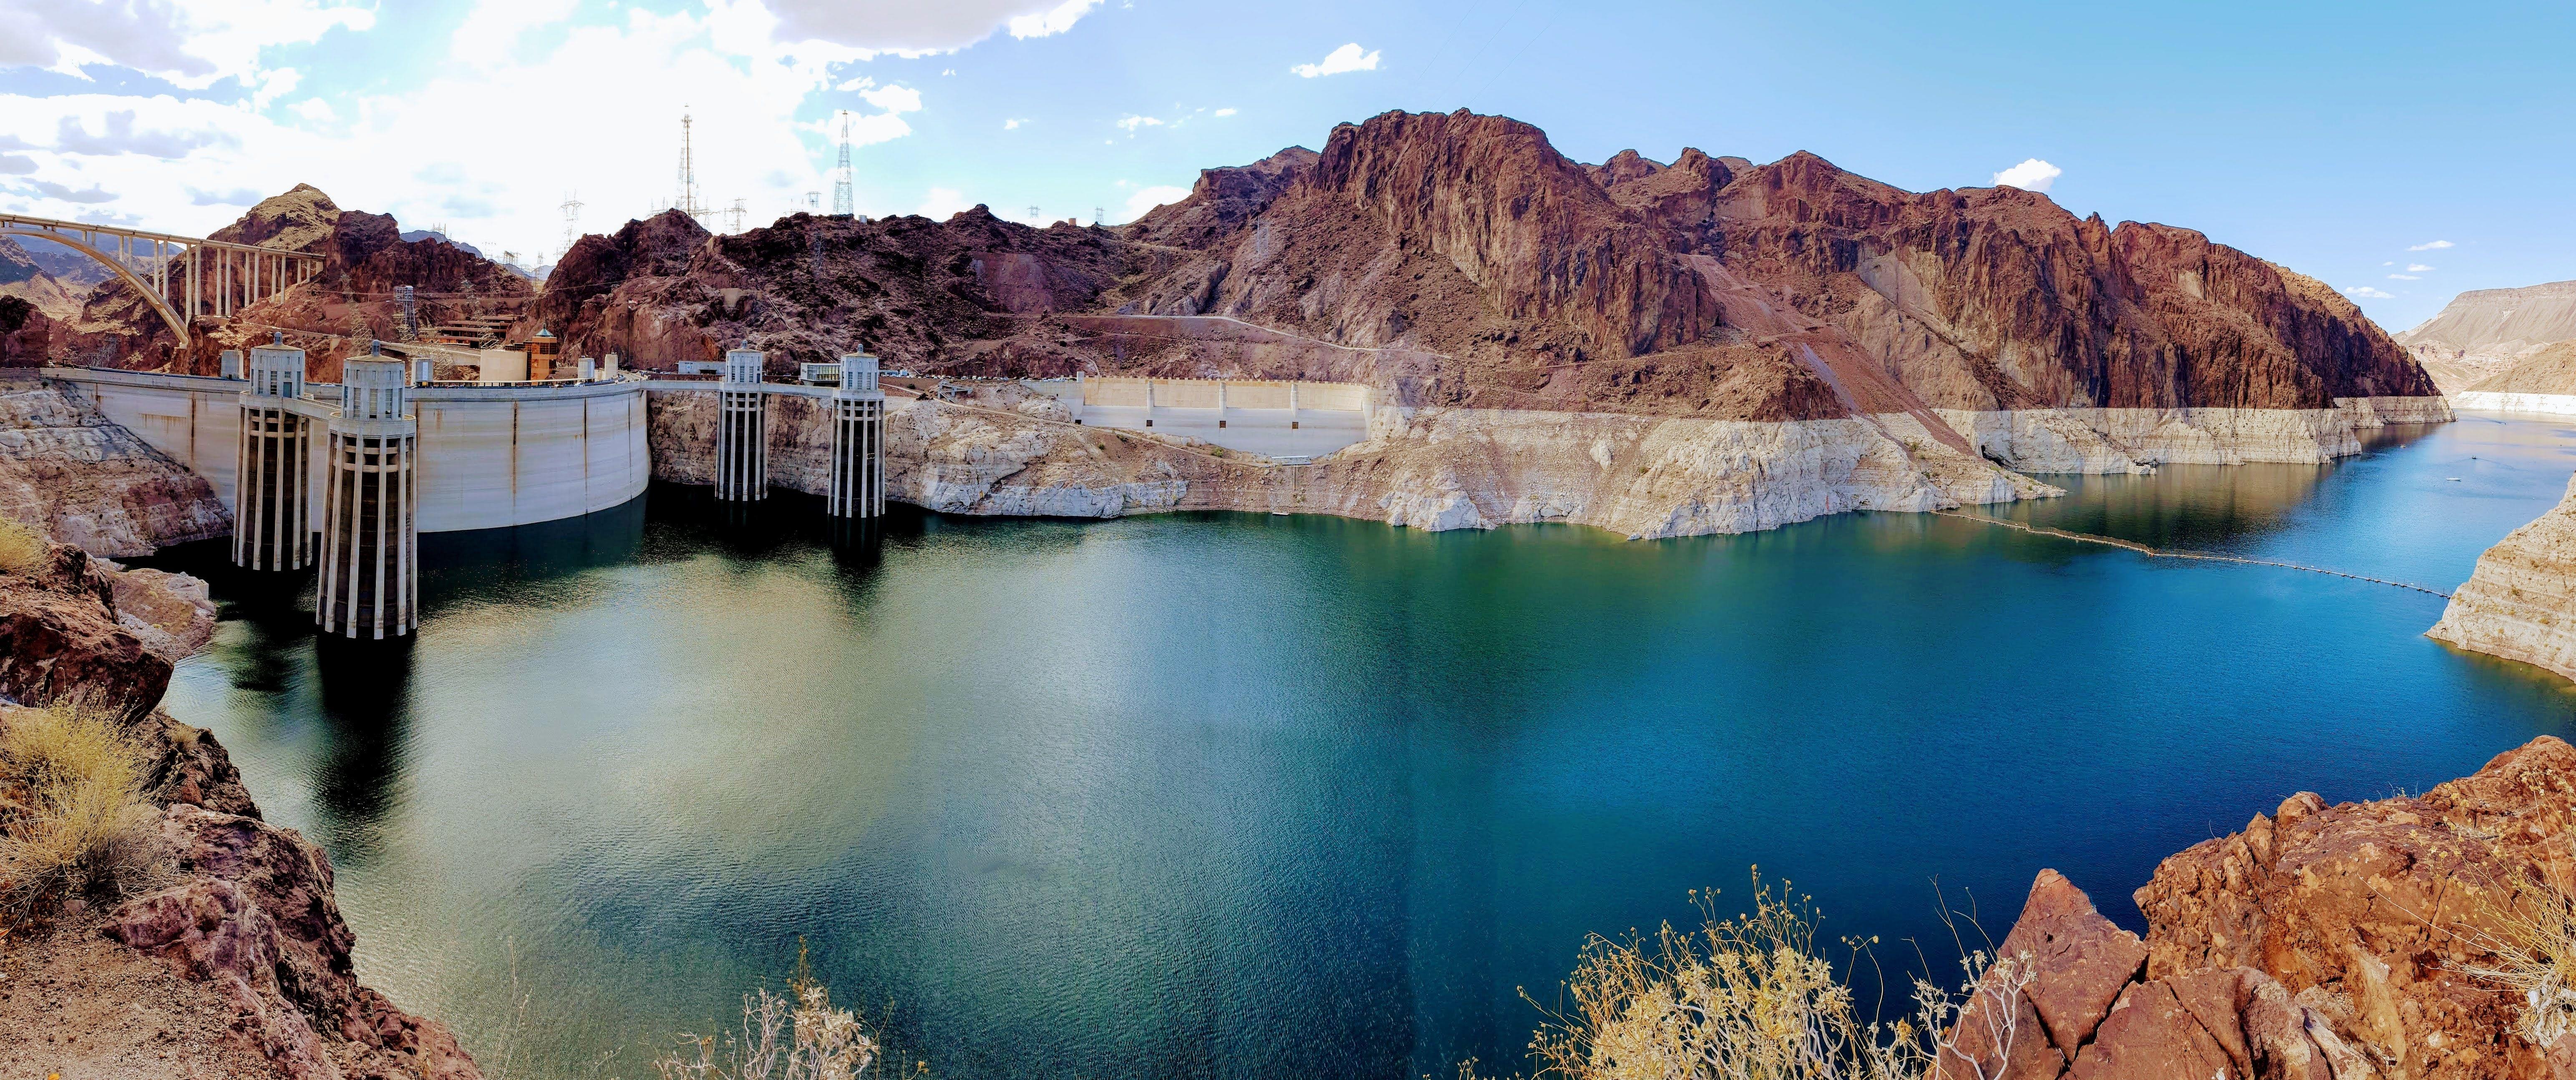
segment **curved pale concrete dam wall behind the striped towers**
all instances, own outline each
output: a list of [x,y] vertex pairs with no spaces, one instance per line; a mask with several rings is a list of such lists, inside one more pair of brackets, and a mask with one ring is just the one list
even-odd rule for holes
[[[234,499],[240,378],[57,370],[108,419]],[[652,481],[644,383],[417,386],[420,532],[495,530],[618,507]],[[317,401],[340,388],[309,386]],[[322,491],[314,455],[312,491]],[[319,514],[319,501],[312,512]]]

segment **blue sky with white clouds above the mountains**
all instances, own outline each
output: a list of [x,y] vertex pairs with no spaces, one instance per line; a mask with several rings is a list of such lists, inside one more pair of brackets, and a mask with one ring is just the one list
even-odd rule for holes
[[688,105],[703,203],[750,224],[829,203],[840,108],[866,213],[1126,221],[1340,121],[1473,108],[1587,162],[1811,149],[1929,190],[2038,159],[2076,213],[2403,329],[2576,278],[2571,46],[2563,3],[0,0],[0,206],[204,231],[301,180],[533,260],[567,193],[585,231],[667,206]]

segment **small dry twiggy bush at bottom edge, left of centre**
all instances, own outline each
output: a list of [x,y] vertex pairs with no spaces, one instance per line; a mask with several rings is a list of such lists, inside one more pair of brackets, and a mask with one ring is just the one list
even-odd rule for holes
[[[680,1049],[652,1062],[662,1080],[860,1080],[896,1072],[884,1039],[860,1023],[858,1011],[832,1005],[832,990],[814,977],[801,944],[788,993],[752,990],[742,995],[737,1031],[680,1039]],[[930,1065],[917,1062],[914,1075],[927,1072]]]

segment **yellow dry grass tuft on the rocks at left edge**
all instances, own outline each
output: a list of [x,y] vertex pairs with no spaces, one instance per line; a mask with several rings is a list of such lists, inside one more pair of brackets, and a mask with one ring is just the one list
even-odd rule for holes
[[111,710],[59,702],[0,720],[0,905],[116,895],[160,856],[144,748]]

